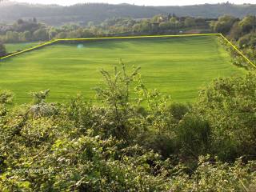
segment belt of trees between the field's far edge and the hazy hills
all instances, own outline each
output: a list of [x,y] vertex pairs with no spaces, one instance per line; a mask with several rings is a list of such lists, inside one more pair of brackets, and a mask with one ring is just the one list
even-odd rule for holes
[[[48,41],[54,38],[90,38],[139,34],[178,34],[186,30],[194,33],[209,31],[207,19],[178,17],[175,14],[158,14],[153,18],[135,20],[133,18],[109,18],[100,24],[88,22],[86,26],[66,24],[46,26],[36,18],[18,19],[13,24],[0,24],[0,38],[3,42]],[[192,31],[193,32],[193,31]]]

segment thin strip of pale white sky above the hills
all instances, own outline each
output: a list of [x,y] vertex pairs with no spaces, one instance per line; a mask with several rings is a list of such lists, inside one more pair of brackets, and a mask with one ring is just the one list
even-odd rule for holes
[[[72,5],[81,2],[106,2],[110,4],[118,3],[130,3],[135,5],[145,5],[145,6],[183,6],[183,5],[194,5],[194,4],[204,4],[204,3],[218,3],[226,2],[227,0],[16,0],[16,2],[30,2],[30,3],[43,3],[43,4],[59,4],[59,5]],[[256,3],[256,0],[230,0],[229,2],[235,4],[242,3]]]

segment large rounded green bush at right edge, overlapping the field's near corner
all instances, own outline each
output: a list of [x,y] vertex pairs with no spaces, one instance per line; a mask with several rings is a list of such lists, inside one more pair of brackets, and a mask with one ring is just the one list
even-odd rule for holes
[[192,113],[210,122],[213,152],[228,160],[256,151],[256,74],[222,78],[203,90]]

